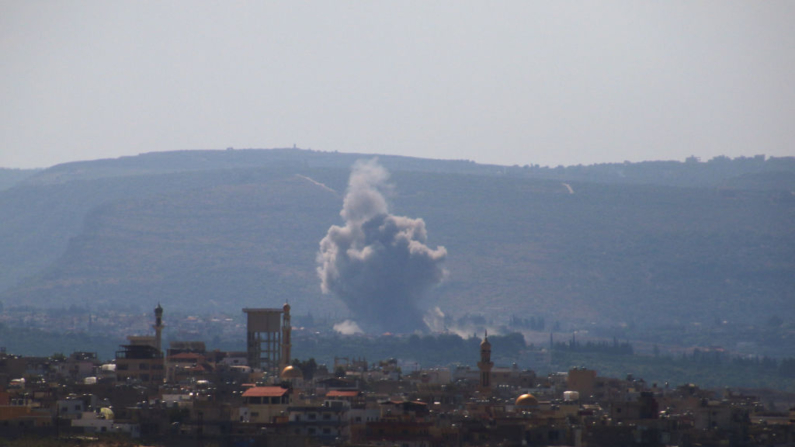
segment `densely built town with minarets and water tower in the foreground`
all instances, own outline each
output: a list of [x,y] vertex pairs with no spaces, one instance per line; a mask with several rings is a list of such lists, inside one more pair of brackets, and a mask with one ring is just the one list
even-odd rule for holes
[[128,336],[110,362],[92,352],[3,353],[0,439],[409,447],[795,442],[795,408],[769,408],[742,391],[602,377],[584,367],[537,376],[495,365],[487,333],[479,352],[462,359],[476,367],[404,371],[394,358],[355,356],[319,365],[292,352],[288,304],[243,312],[242,352],[208,351],[189,340],[164,350],[158,305],[154,334]]

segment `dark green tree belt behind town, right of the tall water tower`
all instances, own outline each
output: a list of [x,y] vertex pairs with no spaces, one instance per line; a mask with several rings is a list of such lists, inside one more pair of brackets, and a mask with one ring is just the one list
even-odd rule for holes
[[[404,364],[416,362],[418,366],[463,365],[476,367],[481,339],[462,339],[455,334],[412,335],[410,337],[337,336],[314,340],[296,340],[295,352],[301,358],[316,359],[332,365],[334,357],[364,357],[370,362],[390,357]],[[649,385],[659,387],[668,383],[676,387],[696,383],[702,387],[749,387],[795,391],[795,358],[776,360],[768,357],[737,357],[729,354],[695,350],[680,356],[637,355],[625,342],[581,344],[578,349],[559,345],[552,351],[550,363],[527,364],[523,361],[528,351],[537,347],[525,344],[521,334],[489,336],[492,355],[497,366],[532,367],[539,375],[568,371],[584,366],[594,369],[603,377],[625,377],[632,374]]]

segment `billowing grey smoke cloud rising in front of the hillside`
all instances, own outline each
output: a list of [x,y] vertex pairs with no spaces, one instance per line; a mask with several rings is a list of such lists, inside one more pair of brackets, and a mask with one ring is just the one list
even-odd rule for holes
[[422,219],[389,214],[388,180],[376,160],[354,164],[340,212],[345,225],[332,225],[320,241],[320,286],[366,331],[425,330],[419,304],[444,278],[447,250],[425,245]]

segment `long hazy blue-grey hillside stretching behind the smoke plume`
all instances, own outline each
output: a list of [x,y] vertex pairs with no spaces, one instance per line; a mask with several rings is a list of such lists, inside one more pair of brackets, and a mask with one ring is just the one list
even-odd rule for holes
[[[62,165],[0,192],[0,300],[209,311],[289,299],[297,314],[342,318],[341,303],[320,294],[315,256],[341,223],[355,156],[227,152]],[[224,156],[242,161],[196,167]],[[423,218],[428,244],[448,252],[449,276],[428,308],[495,324],[795,320],[789,171],[683,187],[381,159],[391,211]]]

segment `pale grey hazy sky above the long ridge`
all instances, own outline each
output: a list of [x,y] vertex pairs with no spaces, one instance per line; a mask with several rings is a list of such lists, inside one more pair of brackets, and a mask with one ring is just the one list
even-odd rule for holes
[[0,0],[0,166],[795,155],[795,1]]

